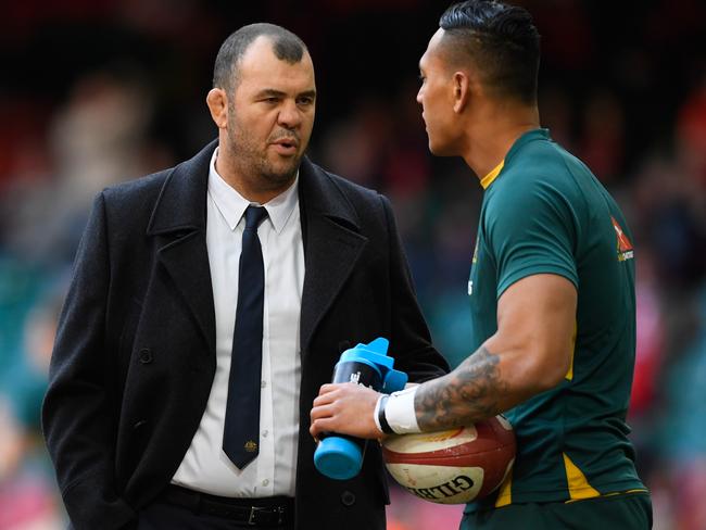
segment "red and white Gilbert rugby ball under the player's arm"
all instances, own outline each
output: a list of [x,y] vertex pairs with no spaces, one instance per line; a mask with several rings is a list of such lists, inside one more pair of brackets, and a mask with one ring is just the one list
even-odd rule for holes
[[515,432],[503,416],[382,441],[390,475],[419,499],[440,504],[477,501],[497,489],[513,467],[515,450]]

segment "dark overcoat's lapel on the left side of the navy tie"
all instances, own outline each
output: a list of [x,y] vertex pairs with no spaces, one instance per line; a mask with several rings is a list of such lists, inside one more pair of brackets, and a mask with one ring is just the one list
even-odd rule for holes
[[216,326],[206,249],[209,164],[217,142],[179,164],[167,177],[147,230],[160,238],[157,260],[174,280],[185,304],[215,355]]

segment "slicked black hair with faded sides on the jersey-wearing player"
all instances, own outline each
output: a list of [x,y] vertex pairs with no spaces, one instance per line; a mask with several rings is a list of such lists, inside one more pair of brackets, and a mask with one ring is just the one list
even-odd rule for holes
[[439,20],[451,61],[471,61],[483,87],[499,97],[537,102],[540,34],[532,15],[495,0],[451,5]]

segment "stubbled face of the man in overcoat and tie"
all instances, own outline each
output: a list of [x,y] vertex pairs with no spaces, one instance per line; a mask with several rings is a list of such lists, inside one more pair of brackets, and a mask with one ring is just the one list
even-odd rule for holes
[[227,146],[237,172],[260,189],[287,188],[308,146],[315,103],[308,53],[290,64],[277,59],[267,37],[255,39],[228,97]]

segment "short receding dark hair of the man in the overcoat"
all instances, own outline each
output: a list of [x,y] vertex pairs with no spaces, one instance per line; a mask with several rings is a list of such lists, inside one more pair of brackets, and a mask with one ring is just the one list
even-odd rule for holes
[[263,35],[272,39],[273,51],[280,61],[295,64],[302,60],[306,45],[289,29],[267,23],[250,24],[230,34],[220,45],[213,68],[214,88],[230,90],[238,86],[238,63],[250,45]]

